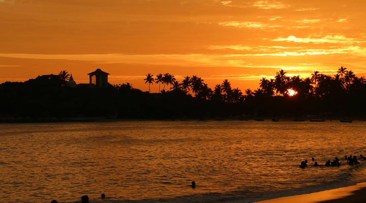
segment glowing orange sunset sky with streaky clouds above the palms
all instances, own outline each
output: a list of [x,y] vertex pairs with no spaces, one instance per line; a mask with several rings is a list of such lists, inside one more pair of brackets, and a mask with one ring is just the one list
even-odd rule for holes
[[[337,3],[335,3],[337,2]],[[366,1],[0,0],[0,83],[97,68],[109,83],[170,73],[256,89],[280,69],[366,75]],[[158,85],[151,86],[158,91]]]

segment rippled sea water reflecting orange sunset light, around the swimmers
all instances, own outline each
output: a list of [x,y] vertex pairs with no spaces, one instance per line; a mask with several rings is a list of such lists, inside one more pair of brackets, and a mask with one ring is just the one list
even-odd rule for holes
[[0,201],[255,202],[348,186],[366,182],[366,161],[344,160],[366,155],[365,133],[365,121],[0,124]]

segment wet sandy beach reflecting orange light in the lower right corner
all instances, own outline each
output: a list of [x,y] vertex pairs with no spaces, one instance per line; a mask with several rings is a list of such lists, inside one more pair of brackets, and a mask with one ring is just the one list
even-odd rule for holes
[[258,201],[257,203],[358,203],[366,202],[366,183],[358,183],[349,187],[324,190],[310,194],[280,197]]

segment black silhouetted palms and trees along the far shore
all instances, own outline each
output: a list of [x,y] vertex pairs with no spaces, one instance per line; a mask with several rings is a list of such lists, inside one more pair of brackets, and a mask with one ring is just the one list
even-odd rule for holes
[[[284,70],[262,78],[259,88],[241,92],[228,80],[214,89],[196,75],[181,82],[169,73],[144,79],[148,92],[130,83],[107,88],[68,87],[70,75],[43,75],[25,82],[0,84],[0,117],[109,117],[129,119],[217,118],[228,116],[363,116],[366,80],[341,66],[334,76],[314,71],[310,78],[289,77]],[[159,85],[151,93],[150,85]],[[289,90],[295,92],[289,95]]]

